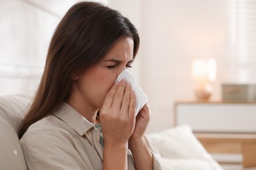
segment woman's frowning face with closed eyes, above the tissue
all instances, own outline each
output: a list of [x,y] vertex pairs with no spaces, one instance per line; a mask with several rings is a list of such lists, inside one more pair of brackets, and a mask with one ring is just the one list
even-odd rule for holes
[[114,85],[117,76],[124,69],[131,67],[132,63],[133,39],[123,37],[102,61],[77,76],[72,92],[75,92],[76,97],[79,97],[87,107],[98,109],[102,107],[106,94]]

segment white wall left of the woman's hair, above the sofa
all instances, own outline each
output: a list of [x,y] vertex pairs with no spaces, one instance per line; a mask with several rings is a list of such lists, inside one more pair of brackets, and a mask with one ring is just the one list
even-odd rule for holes
[[24,1],[0,1],[0,95],[35,91],[58,20]]

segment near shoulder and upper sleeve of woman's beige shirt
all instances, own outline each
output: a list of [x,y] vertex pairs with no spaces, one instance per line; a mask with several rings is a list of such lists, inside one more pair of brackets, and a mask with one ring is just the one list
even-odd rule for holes
[[[20,139],[29,169],[82,169],[82,148],[70,127],[50,115],[32,124]],[[86,169],[86,168],[85,168]]]

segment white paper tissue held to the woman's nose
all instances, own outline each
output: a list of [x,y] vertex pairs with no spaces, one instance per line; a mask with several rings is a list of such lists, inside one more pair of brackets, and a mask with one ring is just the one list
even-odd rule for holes
[[136,115],[139,113],[140,109],[146,104],[148,101],[148,96],[142,91],[142,89],[138,86],[135,78],[127,69],[123,70],[116,78],[116,82],[121,81],[121,79],[127,80],[129,84],[131,84],[131,88],[135,92],[136,95]]

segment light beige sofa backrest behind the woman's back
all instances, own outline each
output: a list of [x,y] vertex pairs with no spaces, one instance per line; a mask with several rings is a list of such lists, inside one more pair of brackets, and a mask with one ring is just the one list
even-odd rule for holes
[[30,95],[0,97],[0,169],[27,169],[18,140],[18,127],[31,99]]

